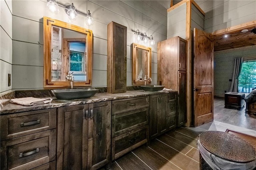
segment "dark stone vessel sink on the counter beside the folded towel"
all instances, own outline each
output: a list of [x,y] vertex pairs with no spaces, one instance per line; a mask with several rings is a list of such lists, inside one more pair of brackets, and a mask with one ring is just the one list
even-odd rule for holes
[[98,92],[97,89],[56,89],[52,93],[57,99],[70,100],[70,99],[83,99],[94,96]]

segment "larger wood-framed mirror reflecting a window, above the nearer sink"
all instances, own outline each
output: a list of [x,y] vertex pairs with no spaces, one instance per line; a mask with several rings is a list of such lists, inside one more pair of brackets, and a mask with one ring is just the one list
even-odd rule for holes
[[44,16],[44,87],[92,85],[92,31]]

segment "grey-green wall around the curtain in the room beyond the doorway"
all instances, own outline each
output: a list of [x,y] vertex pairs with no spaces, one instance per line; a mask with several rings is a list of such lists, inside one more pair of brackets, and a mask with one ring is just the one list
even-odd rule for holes
[[224,97],[229,92],[235,57],[256,57],[256,45],[214,52],[214,95]]

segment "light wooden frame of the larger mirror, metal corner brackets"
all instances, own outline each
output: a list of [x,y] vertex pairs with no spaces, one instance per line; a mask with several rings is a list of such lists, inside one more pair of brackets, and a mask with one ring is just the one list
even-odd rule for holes
[[[67,30],[72,30],[86,35],[87,47],[87,63],[86,63],[86,81],[74,81],[74,87],[83,87],[92,85],[92,30],[72,25],[66,22],[55,20],[44,16],[44,87],[70,87],[69,81],[52,81],[52,60],[51,60],[51,32],[52,26],[58,26]],[[63,47],[62,47],[63,48]],[[68,62],[63,61],[62,65],[68,65]]]

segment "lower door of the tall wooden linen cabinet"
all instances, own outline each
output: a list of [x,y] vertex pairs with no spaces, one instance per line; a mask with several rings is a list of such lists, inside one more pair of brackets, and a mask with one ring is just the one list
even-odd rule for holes
[[186,123],[186,71],[178,71],[178,122],[177,126]]

